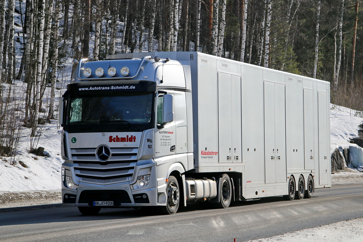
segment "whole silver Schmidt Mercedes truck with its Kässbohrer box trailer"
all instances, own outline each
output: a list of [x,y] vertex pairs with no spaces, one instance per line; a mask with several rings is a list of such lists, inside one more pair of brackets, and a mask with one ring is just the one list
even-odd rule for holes
[[75,64],[59,107],[64,205],[173,214],[331,186],[329,82],[199,52]]

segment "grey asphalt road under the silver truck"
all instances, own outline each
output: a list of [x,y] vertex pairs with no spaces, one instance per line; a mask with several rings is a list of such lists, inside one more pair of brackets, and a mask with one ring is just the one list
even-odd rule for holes
[[0,241],[208,241],[266,238],[363,217],[363,186],[315,190],[311,199],[234,202],[228,209],[179,208],[170,216],[143,209],[101,209],[82,216],[60,207],[0,213]]

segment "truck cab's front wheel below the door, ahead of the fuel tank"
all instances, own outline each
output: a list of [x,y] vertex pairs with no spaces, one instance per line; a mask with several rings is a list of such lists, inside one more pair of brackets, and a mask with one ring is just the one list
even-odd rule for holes
[[174,176],[168,178],[166,185],[166,206],[158,206],[160,214],[174,214],[180,204],[180,190],[178,180]]

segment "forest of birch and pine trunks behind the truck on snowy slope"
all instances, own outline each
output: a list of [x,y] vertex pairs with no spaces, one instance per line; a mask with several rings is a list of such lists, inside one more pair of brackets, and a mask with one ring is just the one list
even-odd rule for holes
[[[29,152],[36,151],[42,125],[57,117],[57,84],[69,82],[73,58],[199,51],[329,81],[331,103],[363,110],[359,4],[360,0],[0,0],[0,156],[15,156],[24,128],[31,130]],[[62,74],[65,71],[68,75]],[[26,85],[25,93],[16,91],[16,80]]]

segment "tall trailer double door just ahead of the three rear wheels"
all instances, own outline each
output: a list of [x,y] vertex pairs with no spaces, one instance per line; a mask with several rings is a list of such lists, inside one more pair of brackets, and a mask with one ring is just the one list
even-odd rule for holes
[[285,85],[264,82],[265,182],[286,182]]

